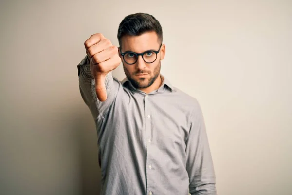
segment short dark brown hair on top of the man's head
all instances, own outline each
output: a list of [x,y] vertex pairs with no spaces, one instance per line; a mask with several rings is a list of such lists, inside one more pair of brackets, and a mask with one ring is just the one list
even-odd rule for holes
[[130,14],[121,21],[118,29],[118,40],[125,35],[139,36],[145,32],[155,31],[158,39],[162,42],[162,27],[156,18],[146,13]]

